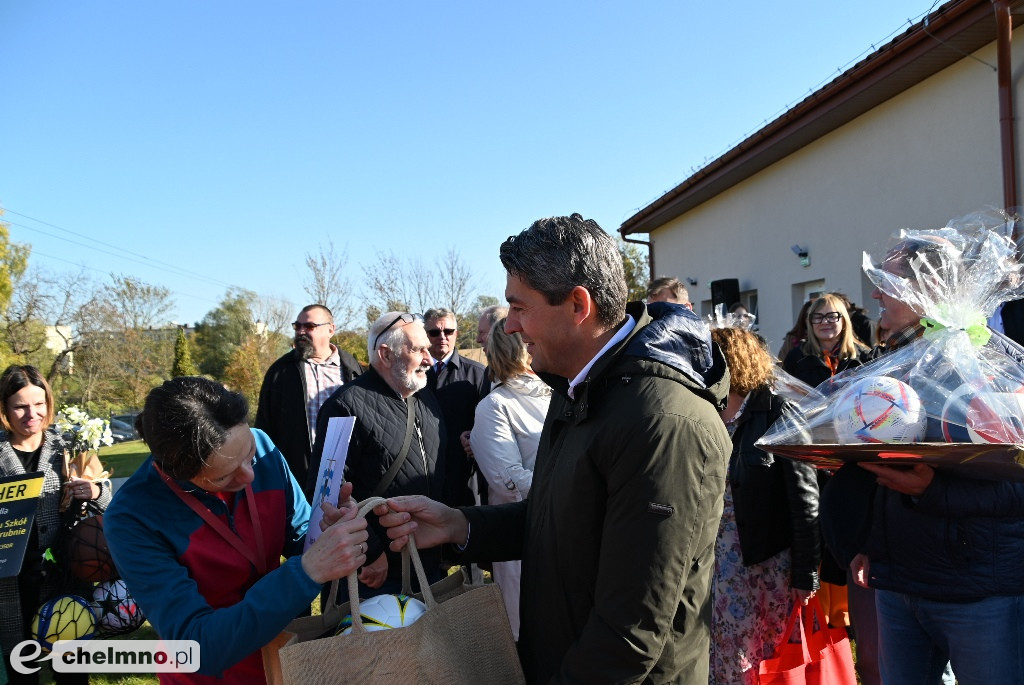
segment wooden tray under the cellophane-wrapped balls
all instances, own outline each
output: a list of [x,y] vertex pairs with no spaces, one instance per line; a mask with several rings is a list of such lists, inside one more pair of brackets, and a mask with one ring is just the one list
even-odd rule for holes
[[1024,451],[1016,444],[912,442],[906,444],[772,444],[773,455],[838,469],[848,462],[931,464],[974,478],[1024,480]]

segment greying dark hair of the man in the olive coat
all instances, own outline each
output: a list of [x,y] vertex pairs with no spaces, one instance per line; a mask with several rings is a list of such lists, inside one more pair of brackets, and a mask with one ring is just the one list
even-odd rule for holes
[[577,286],[594,298],[598,319],[611,328],[626,316],[623,258],[611,236],[580,214],[540,219],[502,243],[505,270],[560,304]]

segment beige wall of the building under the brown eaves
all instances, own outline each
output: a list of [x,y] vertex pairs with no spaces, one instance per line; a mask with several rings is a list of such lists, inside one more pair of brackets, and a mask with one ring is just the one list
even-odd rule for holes
[[[1024,46],[1015,47],[1021,74]],[[994,65],[995,44],[974,56]],[[1021,89],[1018,79],[1018,112]],[[1020,147],[1019,125],[1016,136]],[[822,282],[877,317],[861,253],[881,256],[893,231],[1001,204],[996,74],[964,58],[651,232],[655,275],[696,280],[688,288],[701,314],[710,282],[738,279],[741,293],[756,291],[761,334],[776,350],[805,291]],[[793,245],[808,248],[810,266]]]

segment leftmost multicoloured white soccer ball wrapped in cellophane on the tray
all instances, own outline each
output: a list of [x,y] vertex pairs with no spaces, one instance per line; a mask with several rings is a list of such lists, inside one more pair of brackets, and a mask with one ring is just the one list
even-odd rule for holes
[[909,385],[889,376],[870,376],[847,388],[833,410],[840,444],[918,442],[928,415]]

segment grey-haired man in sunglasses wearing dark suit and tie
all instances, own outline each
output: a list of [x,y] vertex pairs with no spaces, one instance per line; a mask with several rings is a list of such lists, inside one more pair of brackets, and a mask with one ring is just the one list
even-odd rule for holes
[[490,381],[482,363],[459,354],[459,322],[454,311],[440,307],[428,309],[423,322],[430,339],[432,361],[427,372],[427,387],[437,396],[447,433],[445,499],[459,505],[471,505],[474,500],[469,479],[473,469],[460,436],[472,430],[476,405],[490,390]]

